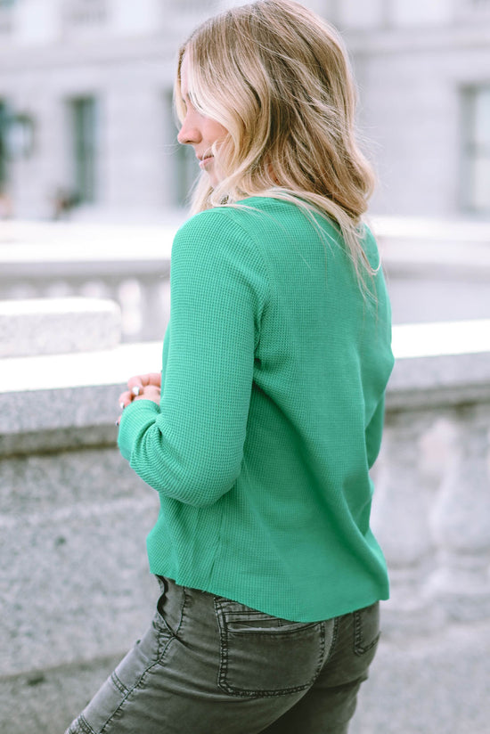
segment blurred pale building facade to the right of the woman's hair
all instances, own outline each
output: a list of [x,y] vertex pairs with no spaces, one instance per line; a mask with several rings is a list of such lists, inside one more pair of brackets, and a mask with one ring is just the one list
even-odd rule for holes
[[376,212],[490,218],[490,2],[337,8],[380,176]]

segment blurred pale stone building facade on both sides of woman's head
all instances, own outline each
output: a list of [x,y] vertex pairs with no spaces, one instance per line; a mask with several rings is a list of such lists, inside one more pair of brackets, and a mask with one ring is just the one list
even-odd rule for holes
[[[77,203],[78,217],[120,220],[182,206],[196,170],[176,143],[176,48],[231,4],[0,0],[4,210],[65,216]],[[490,217],[489,0],[305,4],[353,56],[374,212]]]

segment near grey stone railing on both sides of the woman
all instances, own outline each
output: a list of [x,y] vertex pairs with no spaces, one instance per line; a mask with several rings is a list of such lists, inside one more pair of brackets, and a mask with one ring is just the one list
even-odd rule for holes
[[[114,346],[113,306],[92,303],[84,315],[70,303],[64,321],[63,304],[34,309],[47,346],[33,356],[18,336],[29,332],[29,305],[10,331],[12,304],[0,307],[0,330],[16,345],[0,361],[0,730],[9,734],[64,730],[141,635],[156,593],[144,536],[158,497],[120,458],[114,420],[127,377],[159,370],[161,343]],[[97,307],[105,326],[95,333]],[[56,348],[42,337],[53,314]],[[94,333],[83,353],[69,353],[75,330]],[[489,322],[394,330],[373,510],[392,597],[354,734],[486,731],[489,335]]]

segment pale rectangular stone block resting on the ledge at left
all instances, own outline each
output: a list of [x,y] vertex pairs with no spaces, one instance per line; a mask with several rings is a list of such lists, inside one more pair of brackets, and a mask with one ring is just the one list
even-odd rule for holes
[[0,301],[0,357],[110,349],[121,335],[114,301],[29,298]]

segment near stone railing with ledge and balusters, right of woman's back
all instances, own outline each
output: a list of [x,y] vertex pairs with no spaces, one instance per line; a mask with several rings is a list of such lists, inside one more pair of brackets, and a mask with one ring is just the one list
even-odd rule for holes
[[394,328],[373,525],[389,629],[490,619],[490,321]]

